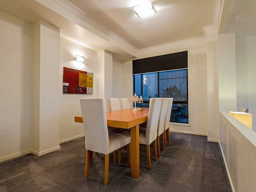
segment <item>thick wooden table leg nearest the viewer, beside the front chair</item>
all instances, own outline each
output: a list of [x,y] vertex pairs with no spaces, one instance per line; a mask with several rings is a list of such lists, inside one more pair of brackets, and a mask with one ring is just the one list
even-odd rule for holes
[[140,176],[140,139],[139,125],[131,128],[131,172],[132,178]]

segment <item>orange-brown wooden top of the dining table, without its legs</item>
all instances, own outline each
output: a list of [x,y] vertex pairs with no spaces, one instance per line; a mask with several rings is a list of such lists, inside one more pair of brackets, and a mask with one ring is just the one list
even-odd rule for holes
[[[149,108],[133,112],[132,109],[124,109],[106,112],[107,124],[111,127],[129,129],[148,120]],[[82,123],[82,117],[76,116],[75,122]]]

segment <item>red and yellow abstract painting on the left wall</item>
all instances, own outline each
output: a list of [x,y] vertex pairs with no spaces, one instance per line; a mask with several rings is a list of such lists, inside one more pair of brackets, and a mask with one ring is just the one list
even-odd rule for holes
[[93,94],[93,73],[63,67],[63,94]]

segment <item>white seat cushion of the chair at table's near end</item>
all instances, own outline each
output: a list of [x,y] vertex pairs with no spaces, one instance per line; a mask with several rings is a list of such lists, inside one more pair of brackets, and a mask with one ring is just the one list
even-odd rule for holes
[[118,150],[119,148],[130,144],[131,137],[123,133],[109,133],[109,153]]

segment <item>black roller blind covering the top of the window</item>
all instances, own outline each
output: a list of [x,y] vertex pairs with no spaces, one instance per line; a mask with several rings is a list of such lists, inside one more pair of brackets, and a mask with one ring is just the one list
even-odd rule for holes
[[133,74],[188,68],[188,51],[132,61]]

